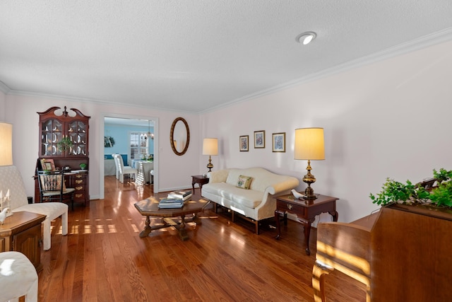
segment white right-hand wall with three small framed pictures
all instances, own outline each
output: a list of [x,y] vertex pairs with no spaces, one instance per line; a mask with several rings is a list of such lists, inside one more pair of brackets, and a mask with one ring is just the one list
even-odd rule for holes
[[[369,193],[386,177],[414,182],[432,169],[452,169],[452,42],[299,84],[201,115],[201,137],[218,137],[214,169],[262,166],[301,178],[307,161],[293,159],[295,129],[324,127],[326,160],[311,161],[316,193],[338,197],[339,221],[377,207]],[[254,131],[266,148],[254,149]],[[272,153],[271,134],[286,132],[286,152]],[[249,135],[249,152],[239,136]],[[200,156],[205,170],[208,156]],[[322,216],[329,219],[329,216]]]

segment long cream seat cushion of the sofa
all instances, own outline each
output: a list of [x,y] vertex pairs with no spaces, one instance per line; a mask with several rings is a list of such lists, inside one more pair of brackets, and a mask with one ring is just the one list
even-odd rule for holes
[[226,182],[210,182],[203,185],[203,192],[218,195],[221,199],[228,199],[251,209],[261,204],[263,199],[263,192],[243,190]]

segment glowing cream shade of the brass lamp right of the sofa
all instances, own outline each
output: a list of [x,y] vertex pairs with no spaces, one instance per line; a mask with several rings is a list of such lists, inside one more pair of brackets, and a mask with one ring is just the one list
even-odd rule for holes
[[294,159],[310,161],[325,159],[323,128],[295,129]]

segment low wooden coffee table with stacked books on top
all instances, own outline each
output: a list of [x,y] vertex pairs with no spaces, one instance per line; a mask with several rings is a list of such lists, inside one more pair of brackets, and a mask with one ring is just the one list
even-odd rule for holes
[[[149,197],[135,204],[135,207],[140,212],[140,214],[146,216],[144,230],[140,233],[141,238],[148,237],[151,231],[174,226],[179,231],[179,238],[181,238],[183,241],[188,240],[189,236],[186,233],[185,223],[194,221],[198,226],[200,226],[202,222],[201,219],[196,216],[196,213],[203,211],[203,209],[209,203],[208,201],[203,199],[200,199],[199,201],[190,200],[186,201],[184,207],[179,209],[159,209],[158,202],[158,199]],[[186,219],[185,216],[189,214],[193,214],[193,216]],[[163,224],[158,226],[150,226],[150,216],[162,217]],[[179,216],[181,217],[181,221],[179,223],[174,223],[174,221],[168,219]]]

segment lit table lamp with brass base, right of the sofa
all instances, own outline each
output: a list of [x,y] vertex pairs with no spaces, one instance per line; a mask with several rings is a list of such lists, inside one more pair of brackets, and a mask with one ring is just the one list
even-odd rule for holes
[[304,175],[303,181],[307,183],[304,194],[307,199],[316,199],[314,189],[311,183],[316,182],[316,178],[311,174],[311,161],[322,161],[325,159],[325,146],[323,142],[323,128],[300,128],[295,129],[295,150],[294,159],[308,161],[307,175]]

